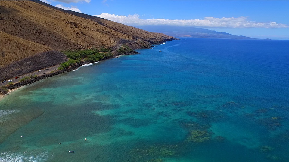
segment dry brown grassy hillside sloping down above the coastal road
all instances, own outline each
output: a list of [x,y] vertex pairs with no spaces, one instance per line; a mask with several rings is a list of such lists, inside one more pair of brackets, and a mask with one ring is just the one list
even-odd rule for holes
[[0,1],[0,36],[0,66],[48,50],[113,47],[123,40],[154,44],[173,39],[41,1]]

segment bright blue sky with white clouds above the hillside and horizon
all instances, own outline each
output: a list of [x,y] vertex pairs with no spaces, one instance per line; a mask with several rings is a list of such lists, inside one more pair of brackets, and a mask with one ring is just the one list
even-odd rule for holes
[[191,26],[252,38],[289,40],[289,0],[41,1],[129,26]]

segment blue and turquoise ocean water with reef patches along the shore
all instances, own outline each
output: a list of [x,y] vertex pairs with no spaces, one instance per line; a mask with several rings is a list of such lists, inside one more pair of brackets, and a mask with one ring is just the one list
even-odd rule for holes
[[0,161],[289,161],[289,41],[138,52],[2,98]]

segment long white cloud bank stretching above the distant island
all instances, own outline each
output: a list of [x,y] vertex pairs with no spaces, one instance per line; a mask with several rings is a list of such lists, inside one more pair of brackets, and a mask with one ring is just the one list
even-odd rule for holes
[[170,20],[170,19],[140,19],[138,14],[120,16],[109,13],[94,15],[114,22],[126,25],[174,25],[174,26],[192,26],[203,28],[288,28],[286,24],[277,22],[255,22],[248,21],[247,17],[205,17],[204,19],[191,20]]

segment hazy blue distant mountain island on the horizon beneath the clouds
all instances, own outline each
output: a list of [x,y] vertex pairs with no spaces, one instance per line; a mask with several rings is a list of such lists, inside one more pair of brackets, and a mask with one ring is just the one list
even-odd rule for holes
[[135,26],[149,32],[164,33],[173,37],[194,37],[194,38],[230,38],[230,39],[257,39],[243,35],[232,35],[226,32],[217,32],[204,28],[195,28],[188,26],[168,26],[168,25],[150,25]]

